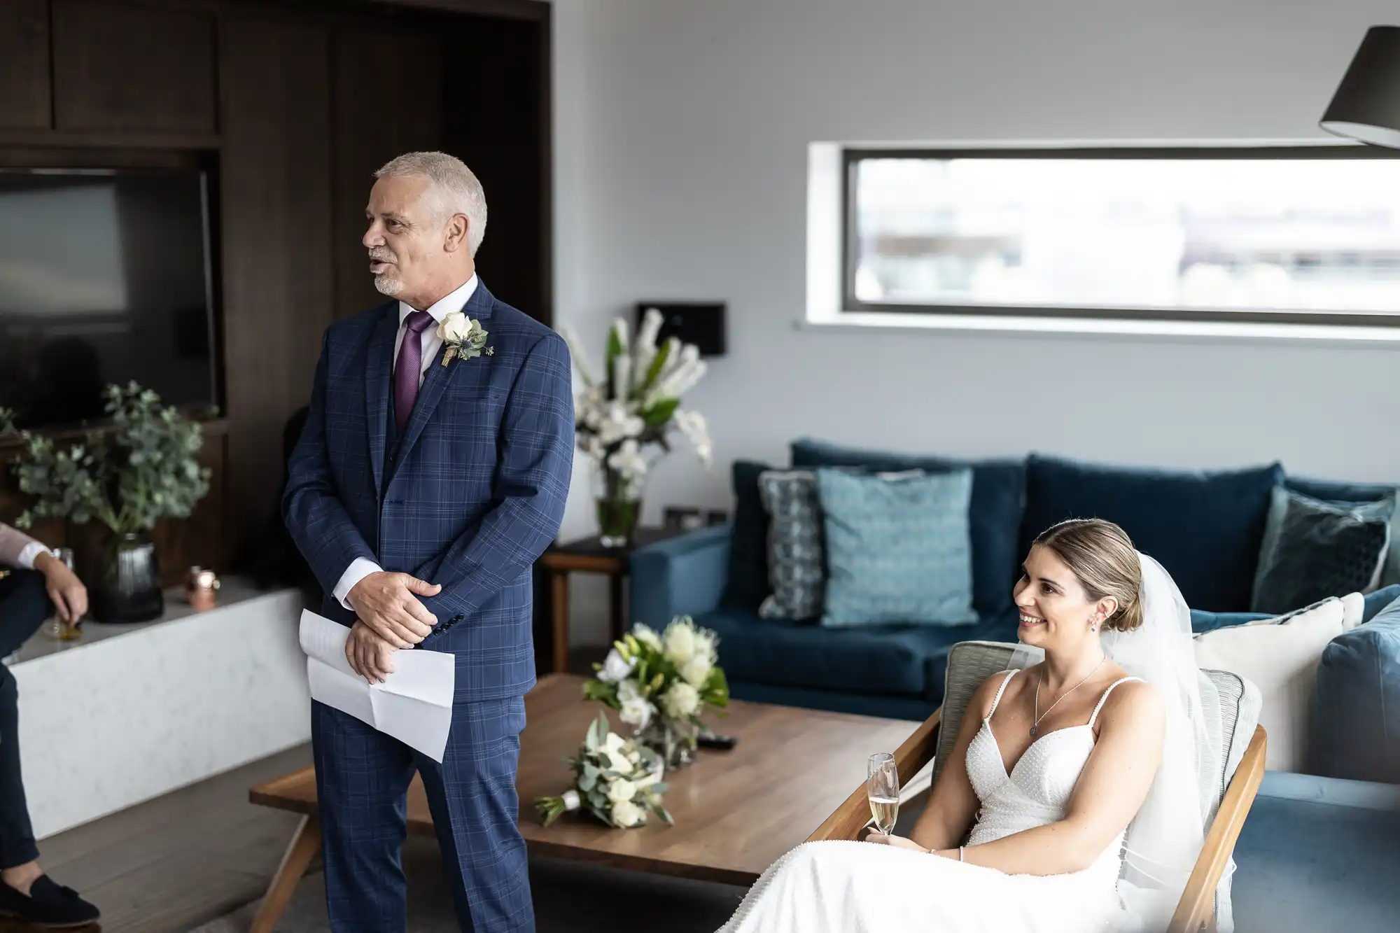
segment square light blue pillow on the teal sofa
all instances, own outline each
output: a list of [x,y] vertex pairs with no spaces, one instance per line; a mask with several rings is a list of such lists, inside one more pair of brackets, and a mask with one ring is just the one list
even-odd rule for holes
[[832,628],[970,625],[972,471],[879,478],[816,471]]

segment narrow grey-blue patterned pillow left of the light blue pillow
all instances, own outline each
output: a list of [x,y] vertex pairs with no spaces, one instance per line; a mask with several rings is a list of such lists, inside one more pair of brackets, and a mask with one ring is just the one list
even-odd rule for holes
[[769,583],[759,615],[764,619],[815,619],[822,615],[826,555],[816,474],[770,469],[759,475],[759,496],[769,513]]

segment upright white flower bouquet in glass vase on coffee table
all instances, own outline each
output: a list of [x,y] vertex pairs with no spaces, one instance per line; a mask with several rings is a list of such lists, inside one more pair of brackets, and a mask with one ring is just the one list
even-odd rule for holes
[[700,716],[729,705],[729,685],[715,664],[717,644],[715,633],[687,615],[659,635],[634,625],[602,664],[594,664],[596,675],[584,682],[584,698],[617,710],[637,741],[657,751],[666,766],[689,765]]

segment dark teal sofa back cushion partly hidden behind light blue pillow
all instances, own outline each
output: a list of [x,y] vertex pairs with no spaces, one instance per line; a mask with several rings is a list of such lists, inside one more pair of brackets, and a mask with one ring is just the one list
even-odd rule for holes
[[1019,459],[959,461],[881,450],[862,450],[801,437],[792,441],[792,466],[857,466],[871,472],[921,469],[946,474],[972,469],[967,521],[972,538],[972,602],[983,618],[1012,608],[1011,591],[1021,576],[1016,535],[1025,502],[1026,465]]

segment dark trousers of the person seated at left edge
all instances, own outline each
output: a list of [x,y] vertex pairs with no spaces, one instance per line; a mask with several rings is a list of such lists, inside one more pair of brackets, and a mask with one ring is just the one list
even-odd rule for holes
[[[52,611],[42,573],[13,570],[0,579],[0,658],[24,644]],[[0,869],[38,857],[20,778],[20,689],[0,664]]]

